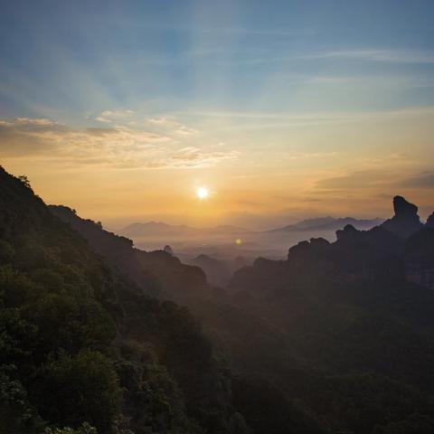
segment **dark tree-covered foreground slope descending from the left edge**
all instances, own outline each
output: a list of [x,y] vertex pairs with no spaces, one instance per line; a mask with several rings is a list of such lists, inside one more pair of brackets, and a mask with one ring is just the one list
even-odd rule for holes
[[0,168],[0,433],[84,422],[99,434],[246,432],[188,311],[145,296]]

